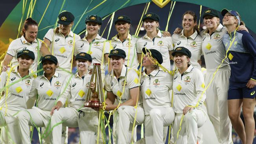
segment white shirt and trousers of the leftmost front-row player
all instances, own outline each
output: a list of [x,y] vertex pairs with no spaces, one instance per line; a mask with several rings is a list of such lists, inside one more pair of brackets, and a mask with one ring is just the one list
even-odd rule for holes
[[[31,72],[29,72],[29,74],[31,74]],[[0,88],[11,85],[19,79],[21,79],[21,76],[18,72],[17,66],[15,66],[13,70],[8,68],[8,70],[6,72],[2,72],[0,76]],[[8,90],[4,90],[5,94],[0,100],[0,126],[4,126],[2,128],[1,139],[4,144],[7,144],[8,142],[17,144],[21,143],[19,131],[14,130],[18,127],[17,115],[13,115],[18,111],[27,108],[26,102],[29,99],[29,93],[32,89],[33,81],[33,76],[29,76],[10,86]],[[11,139],[9,139],[7,135],[9,135]]]

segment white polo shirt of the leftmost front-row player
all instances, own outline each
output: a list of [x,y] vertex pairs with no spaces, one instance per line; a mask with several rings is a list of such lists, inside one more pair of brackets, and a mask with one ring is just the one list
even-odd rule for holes
[[[11,83],[21,79],[21,76],[17,70],[17,66],[13,68],[10,72],[11,68],[8,68],[6,72],[2,72],[0,76],[0,88],[6,87]],[[8,79],[8,73],[10,72],[10,77]],[[31,74],[31,72],[29,72]],[[34,81],[33,76],[29,76],[28,78],[15,83],[8,89],[8,93],[6,96],[6,89],[4,90],[5,94],[0,100],[1,107],[13,110],[13,111],[20,111],[23,109],[27,109],[26,102],[28,101],[30,90],[32,89],[32,83]],[[8,81],[7,81],[8,80]],[[7,105],[7,107],[6,107]]]

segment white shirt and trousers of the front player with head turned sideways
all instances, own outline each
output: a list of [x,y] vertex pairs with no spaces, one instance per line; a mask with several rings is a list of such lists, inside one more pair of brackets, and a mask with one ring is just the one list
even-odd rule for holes
[[173,123],[174,111],[171,107],[170,93],[173,76],[156,69],[141,77],[141,95],[145,111],[146,144],[164,144],[168,126]]

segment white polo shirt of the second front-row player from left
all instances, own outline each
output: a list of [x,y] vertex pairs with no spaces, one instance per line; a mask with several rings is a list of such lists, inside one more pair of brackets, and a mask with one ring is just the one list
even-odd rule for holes
[[51,81],[45,77],[45,74],[35,79],[29,96],[36,97],[38,94],[39,109],[51,111],[59,97],[65,78],[66,76],[55,72]]

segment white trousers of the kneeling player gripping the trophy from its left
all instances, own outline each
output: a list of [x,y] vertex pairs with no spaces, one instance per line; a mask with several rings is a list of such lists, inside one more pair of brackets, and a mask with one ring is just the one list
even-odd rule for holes
[[[61,123],[62,122],[62,123]],[[51,119],[52,144],[61,141],[61,127],[79,127],[81,144],[95,144],[98,128],[98,113],[77,112],[72,107],[55,110]]]

